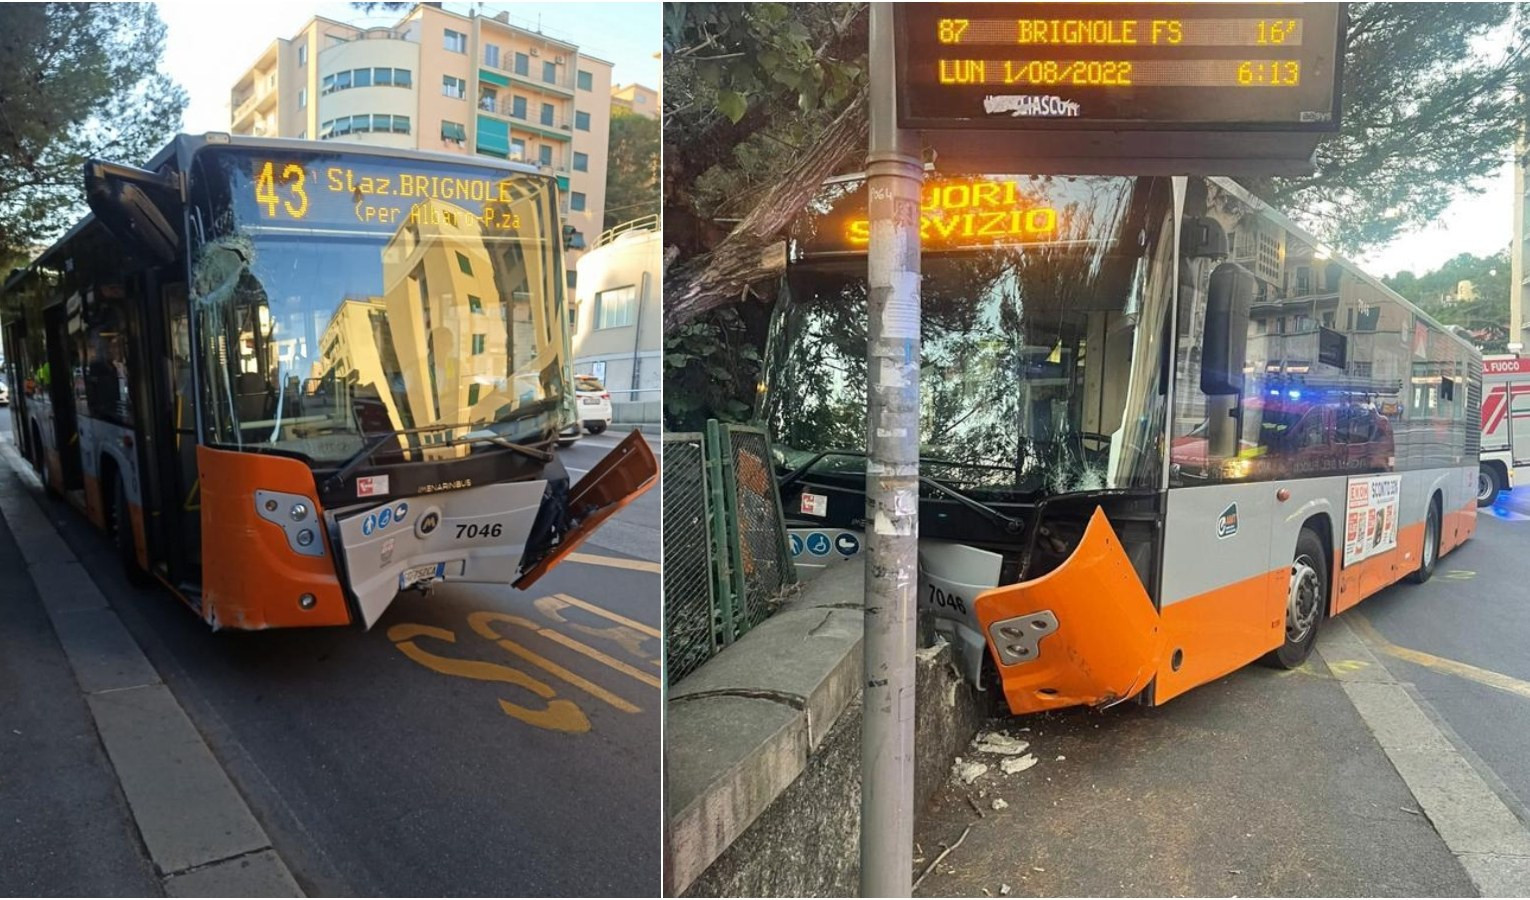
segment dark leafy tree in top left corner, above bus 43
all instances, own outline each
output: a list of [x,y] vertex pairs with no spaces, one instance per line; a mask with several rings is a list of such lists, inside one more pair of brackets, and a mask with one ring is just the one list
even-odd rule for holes
[[0,5],[0,256],[83,214],[81,167],[147,162],[181,127],[151,3]]

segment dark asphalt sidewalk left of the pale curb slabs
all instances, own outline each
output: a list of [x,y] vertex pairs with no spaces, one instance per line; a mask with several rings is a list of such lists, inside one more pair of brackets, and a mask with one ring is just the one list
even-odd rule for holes
[[[18,490],[0,459],[0,491]],[[3,516],[0,831],[0,894],[164,894]]]

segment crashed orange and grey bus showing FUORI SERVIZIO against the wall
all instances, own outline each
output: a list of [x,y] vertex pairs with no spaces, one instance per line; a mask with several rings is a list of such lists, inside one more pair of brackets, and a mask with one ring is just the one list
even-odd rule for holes
[[[791,546],[864,527],[864,182],[765,363]],[[1476,525],[1478,352],[1216,178],[927,174],[920,605],[1016,713],[1161,704],[1427,579]]]

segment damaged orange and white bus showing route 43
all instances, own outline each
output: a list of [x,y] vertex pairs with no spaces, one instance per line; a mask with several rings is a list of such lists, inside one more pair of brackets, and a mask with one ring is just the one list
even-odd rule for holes
[[485,158],[177,136],[0,294],[15,438],[208,624],[526,586],[656,479],[578,484],[558,191]]

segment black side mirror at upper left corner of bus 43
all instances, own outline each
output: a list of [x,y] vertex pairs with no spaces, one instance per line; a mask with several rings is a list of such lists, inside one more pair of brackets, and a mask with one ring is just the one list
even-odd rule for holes
[[181,185],[174,176],[132,165],[86,162],[86,202],[118,240],[168,263],[181,249]]

